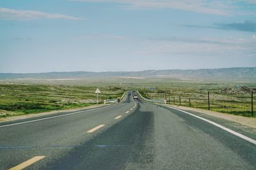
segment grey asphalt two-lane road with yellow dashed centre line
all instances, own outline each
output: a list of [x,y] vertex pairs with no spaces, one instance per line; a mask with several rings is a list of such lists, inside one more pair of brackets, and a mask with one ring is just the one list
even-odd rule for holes
[[0,169],[256,169],[253,143],[132,96],[65,114],[0,124]]

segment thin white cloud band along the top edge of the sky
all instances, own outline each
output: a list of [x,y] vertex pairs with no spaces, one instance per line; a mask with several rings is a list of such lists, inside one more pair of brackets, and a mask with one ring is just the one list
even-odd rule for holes
[[240,3],[256,5],[254,0],[70,0],[90,3],[118,3],[128,5],[128,8],[166,9],[195,11],[214,15],[255,15],[255,11],[244,11]]

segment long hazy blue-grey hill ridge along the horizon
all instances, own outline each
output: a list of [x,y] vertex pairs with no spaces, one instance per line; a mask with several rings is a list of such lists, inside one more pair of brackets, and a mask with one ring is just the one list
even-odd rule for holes
[[108,78],[108,77],[159,77],[159,78],[190,78],[203,80],[256,80],[256,67],[232,67],[220,69],[168,69],[146,71],[116,72],[51,72],[51,73],[0,73],[0,79],[35,78]]

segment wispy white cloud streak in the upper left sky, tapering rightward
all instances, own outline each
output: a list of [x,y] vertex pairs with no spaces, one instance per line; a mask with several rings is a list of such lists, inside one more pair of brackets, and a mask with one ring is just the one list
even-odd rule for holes
[[9,8],[0,7],[0,20],[38,20],[38,19],[65,19],[65,20],[80,20],[80,18],[58,13],[44,13],[41,11],[31,10],[12,10]]

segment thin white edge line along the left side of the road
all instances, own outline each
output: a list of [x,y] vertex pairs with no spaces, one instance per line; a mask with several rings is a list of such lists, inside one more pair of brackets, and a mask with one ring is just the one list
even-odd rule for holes
[[[116,104],[118,104],[118,103],[116,103]],[[99,109],[103,109],[103,108],[108,108],[110,106],[115,106],[116,104],[112,104],[112,105],[101,107],[101,108],[94,108],[94,109],[89,109],[89,110],[84,110],[84,111],[77,111],[77,112],[74,112],[74,113],[67,113],[67,114],[64,114],[64,115],[58,115],[58,116],[54,116],[54,117],[40,118],[40,119],[36,119],[36,120],[29,120],[29,121],[26,121],[26,122],[19,122],[19,123],[16,123],[16,124],[0,125],[0,128],[1,127],[12,126],[12,125],[28,124],[28,123],[31,123],[31,122],[47,120],[47,119],[50,119],[50,118],[65,117],[65,116],[68,116],[68,115],[75,115],[77,113],[82,113],[82,112],[87,112],[87,111],[93,111],[93,110],[99,110]]]

